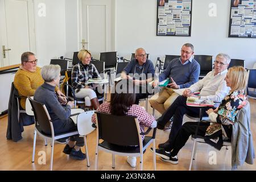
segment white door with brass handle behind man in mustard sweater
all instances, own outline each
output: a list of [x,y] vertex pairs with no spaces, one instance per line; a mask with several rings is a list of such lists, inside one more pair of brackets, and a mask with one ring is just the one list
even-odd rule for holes
[[1,67],[20,64],[23,52],[35,53],[32,0],[0,0],[0,22]]

